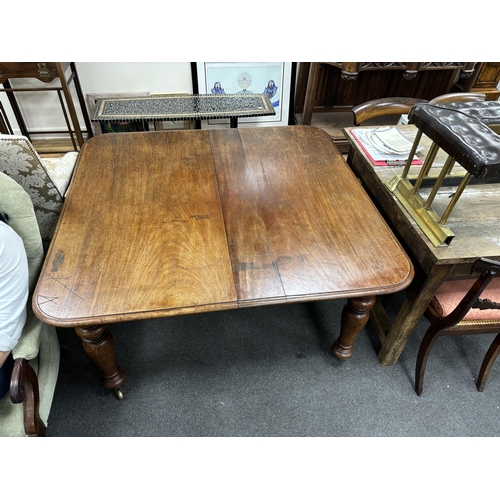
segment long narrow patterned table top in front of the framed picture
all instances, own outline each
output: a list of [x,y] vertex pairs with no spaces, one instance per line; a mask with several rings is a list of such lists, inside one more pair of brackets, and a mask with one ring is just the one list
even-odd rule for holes
[[264,94],[199,94],[98,99],[92,121],[195,120],[272,116]]

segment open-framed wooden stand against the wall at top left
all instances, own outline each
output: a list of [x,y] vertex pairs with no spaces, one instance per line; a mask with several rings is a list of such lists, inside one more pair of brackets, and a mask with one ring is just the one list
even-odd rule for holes
[[[11,80],[17,78],[35,78],[44,83],[51,83],[58,79],[59,85],[52,84],[50,86],[39,87],[14,87]],[[84,134],[87,135],[87,138],[92,137],[92,128],[74,62],[0,62],[0,84],[3,84],[3,88],[0,88],[0,92],[7,93],[9,103],[12,106],[14,116],[21,130],[21,135],[26,136],[30,141],[32,141],[32,135],[34,134],[69,134],[74,150],[78,151],[85,141]],[[74,85],[76,91],[86,130],[81,129],[78,121],[76,107],[71,95],[71,84]],[[19,107],[19,103],[15,97],[16,93],[50,91],[57,92],[59,102],[61,104],[61,110],[67,126],[67,132],[61,132],[60,130],[29,130],[21,112],[21,108]]]

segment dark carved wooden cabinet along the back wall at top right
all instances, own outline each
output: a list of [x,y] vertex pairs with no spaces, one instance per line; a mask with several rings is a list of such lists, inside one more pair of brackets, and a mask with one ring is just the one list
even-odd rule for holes
[[[449,92],[478,92],[498,98],[500,63],[301,62],[295,122],[310,125],[313,113],[349,111],[383,97],[431,100]],[[496,97],[495,97],[496,96]],[[302,116],[300,116],[302,114]],[[341,152],[348,143],[341,129],[332,134]]]

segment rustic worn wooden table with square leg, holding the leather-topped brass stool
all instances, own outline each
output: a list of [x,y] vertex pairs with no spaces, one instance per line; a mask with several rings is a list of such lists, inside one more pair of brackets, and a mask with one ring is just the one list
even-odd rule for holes
[[[410,141],[414,140],[417,129],[413,125],[398,128]],[[396,175],[401,175],[404,167],[373,167],[350,130],[352,129],[348,128],[345,131],[350,144],[347,162],[404,244],[416,268],[415,279],[393,321],[378,301],[370,312],[371,322],[381,340],[379,361],[383,365],[393,365],[444,280],[468,277],[477,258],[500,259],[500,185],[469,185],[447,223],[455,233],[455,238],[449,246],[436,247],[394,194],[387,189],[386,182]],[[431,145],[430,139],[424,135],[421,145],[424,150],[417,153],[417,156],[425,161]],[[429,173],[431,177],[437,177],[446,159],[447,155],[438,151]],[[456,168],[462,174],[466,172],[461,167]],[[409,175],[418,175],[419,171],[420,167],[412,166]],[[422,188],[424,194],[430,193],[430,190],[430,187]],[[436,210],[444,210],[449,196],[455,190],[454,186],[441,190],[434,200]]]

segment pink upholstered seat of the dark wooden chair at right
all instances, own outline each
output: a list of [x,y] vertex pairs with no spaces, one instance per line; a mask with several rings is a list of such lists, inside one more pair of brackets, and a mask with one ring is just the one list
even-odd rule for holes
[[[434,295],[430,306],[438,316],[450,314],[476,280],[474,278],[445,281]],[[500,278],[494,278],[481,295],[481,299],[488,299],[500,303]],[[464,320],[488,320],[500,322],[500,309],[471,309]]]

